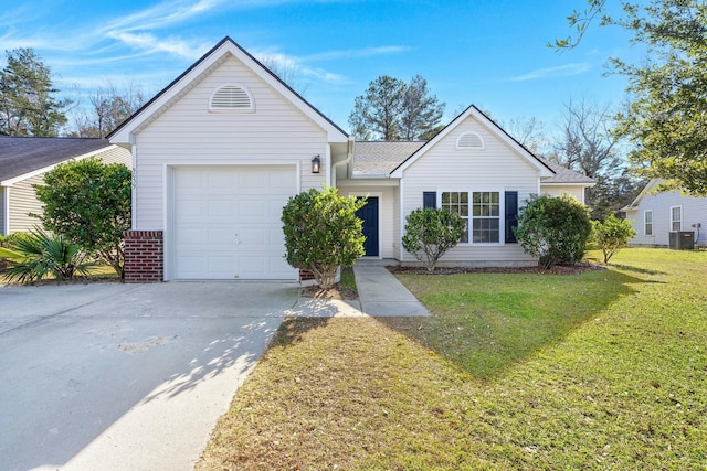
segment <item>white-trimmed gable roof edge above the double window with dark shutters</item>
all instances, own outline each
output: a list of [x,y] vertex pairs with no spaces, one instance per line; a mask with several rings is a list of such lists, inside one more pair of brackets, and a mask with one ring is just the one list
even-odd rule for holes
[[418,159],[420,159],[424,153],[431,149],[435,143],[440,140],[444,139],[446,135],[449,135],[454,128],[461,125],[466,118],[469,116],[474,117],[477,121],[484,125],[493,135],[495,135],[498,139],[505,142],[508,147],[514,149],[520,157],[526,159],[531,165],[538,169],[540,172],[540,176],[551,178],[555,176],[555,172],[540,159],[532,154],[528,149],[523,147],[520,142],[515,140],[510,135],[508,135],[504,129],[500,128],[496,122],[494,122],[489,117],[484,115],[481,109],[476,108],[474,105],[471,105],[466,108],[460,116],[454,118],[452,122],[450,122],[444,129],[437,132],[432,139],[425,142],[420,149],[418,149],[413,154],[411,154],[408,159],[401,162],[393,171],[390,173],[390,176],[393,178],[402,178],[402,172],[410,165],[412,165]]

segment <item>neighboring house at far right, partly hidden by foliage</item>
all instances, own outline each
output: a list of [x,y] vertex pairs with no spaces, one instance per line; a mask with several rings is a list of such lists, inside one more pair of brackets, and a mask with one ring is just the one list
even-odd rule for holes
[[707,197],[679,191],[655,193],[661,180],[651,180],[629,206],[622,208],[636,232],[633,246],[669,245],[671,232],[693,232],[695,245],[707,245]]

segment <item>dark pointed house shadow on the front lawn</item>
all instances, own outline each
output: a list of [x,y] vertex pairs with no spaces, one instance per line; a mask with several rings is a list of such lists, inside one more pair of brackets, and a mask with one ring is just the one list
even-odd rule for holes
[[460,274],[399,279],[430,318],[381,318],[479,379],[561,342],[618,299],[650,282],[618,270],[581,275]]

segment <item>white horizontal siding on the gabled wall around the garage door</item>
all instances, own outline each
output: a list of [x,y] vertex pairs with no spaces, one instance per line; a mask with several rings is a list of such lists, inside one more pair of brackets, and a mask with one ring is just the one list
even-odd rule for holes
[[[254,111],[209,111],[213,90],[231,83],[252,93]],[[325,130],[233,56],[143,129],[137,149],[137,229],[163,228],[166,165],[298,162],[300,190],[320,188],[329,171]]]

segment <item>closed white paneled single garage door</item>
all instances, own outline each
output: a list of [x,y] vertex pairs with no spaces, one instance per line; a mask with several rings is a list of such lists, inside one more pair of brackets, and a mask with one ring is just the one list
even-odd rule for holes
[[289,165],[173,171],[173,278],[296,279],[279,217],[297,192]]

